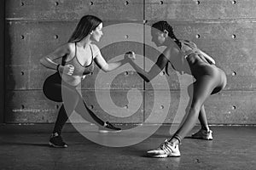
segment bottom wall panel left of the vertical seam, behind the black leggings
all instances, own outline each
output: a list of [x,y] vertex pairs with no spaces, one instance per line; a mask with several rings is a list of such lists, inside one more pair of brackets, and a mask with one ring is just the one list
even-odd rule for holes
[[[142,90],[82,90],[81,93],[91,111],[104,121],[143,122]],[[6,123],[49,123],[55,122],[61,103],[47,99],[42,90],[16,90],[6,93],[5,107]],[[82,117],[86,116],[88,111],[83,114]]]

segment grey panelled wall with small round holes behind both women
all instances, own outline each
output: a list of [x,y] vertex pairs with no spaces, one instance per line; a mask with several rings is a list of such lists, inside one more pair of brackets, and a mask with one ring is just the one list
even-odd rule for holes
[[[99,47],[102,47],[102,43],[110,44],[102,48],[107,60],[134,50],[155,61],[155,49],[140,42],[150,39],[148,25],[156,20],[167,20],[178,38],[196,42],[227,74],[228,84],[224,91],[207,99],[209,122],[256,123],[254,0],[9,0],[5,3],[4,122],[55,121],[60,104],[49,101],[42,92],[44,79],[53,71],[39,65],[38,60],[67,42],[80,17],[95,14],[104,21],[106,32]],[[120,29],[118,24],[121,24]],[[116,30],[108,29],[111,26]],[[142,63],[148,68],[146,59]],[[86,77],[82,94],[90,102],[90,108],[104,120],[143,122],[152,111],[160,115],[168,112],[166,123],[181,119],[179,116],[174,119],[178,105],[186,107],[186,103],[181,101],[183,94],[179,90],[176,72],[172,71],[171,76],[167,77],[163,71],[154,86],[143,82],[132,71],[123,71],[109,84],[109,73],[95,89],[98,75],[99,69],[96,68],[92,75]],[[100,94],[105,102],[98,101],[96,94]],[[109,99],[112,101],[109,102]],[[171,103],[169,110],[166,110],[166,101]],[[109,115],[108,111],[113,112],[114,116]],[[131,111],[134,113],[131,114]],[[122,116],[117,116],[119,114]],[[79,122],[79,117],[75,120]],[[150,122],[159,123],[159,117]]]

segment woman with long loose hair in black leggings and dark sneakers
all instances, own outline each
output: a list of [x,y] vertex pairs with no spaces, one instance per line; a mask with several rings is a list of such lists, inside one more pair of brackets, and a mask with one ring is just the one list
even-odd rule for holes
[[[120,130],[119,127],[114,127],[109,122],[103,122],[90,111],[76,89],[84,77],[94,70],[94,62],[102,71],[106,72],[113,71],[125,64],[125,59],[108,63],[102,57],[100,49],[92,43],[99,42],[102,35],[102,20],[93,15],[85,15],[79,20],[67,43],[40,59],[42,65],[56,71],[44,82],[45,96],[55,102],[62,102],[53,133],[49,139],[51,146],[67,147],[61,138],[61,130],[73,111],[83,115],[84,109],[87,110],[89,121],[105,127],[102,129],[103,132]],[[62,59],[61,64],[56,63],[55,59]]]

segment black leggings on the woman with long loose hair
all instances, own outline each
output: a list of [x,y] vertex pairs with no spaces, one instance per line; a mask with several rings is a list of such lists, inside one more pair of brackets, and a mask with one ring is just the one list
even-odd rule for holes
[[[61,76],[58,72],[45,80],[43,91],[48,99],[62,102],[53,133],[61,134],[62,127],[73,111],[78,112],[88,122],[104,125],[104,122],[87,107],[76,87],[61,81]],[[85,114],[86,111],[88,111],[89,115]]]

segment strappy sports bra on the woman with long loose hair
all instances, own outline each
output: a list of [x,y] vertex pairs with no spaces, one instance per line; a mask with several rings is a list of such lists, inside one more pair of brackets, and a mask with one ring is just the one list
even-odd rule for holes
[[83,76],[90,74],[94,70],[94,62],[93,62],[93,53],[92,53],[92,48],[90,46],[90,51],[91,51],[91,63],[90,65],[81,65],[79,62],[79,59],[77,57],[77,44],[75,43],[75,56],[73,59],[66,61],[67,58],[62,59],[62,64],[61,65],[73,65],[74,71],[73,75],[74,76]]

